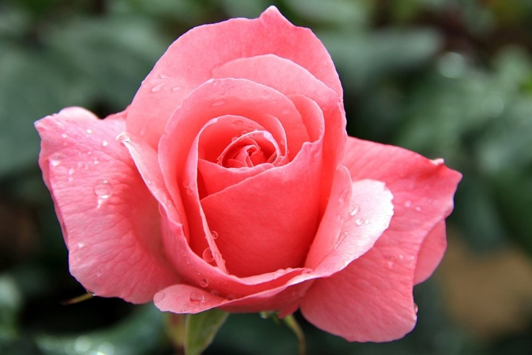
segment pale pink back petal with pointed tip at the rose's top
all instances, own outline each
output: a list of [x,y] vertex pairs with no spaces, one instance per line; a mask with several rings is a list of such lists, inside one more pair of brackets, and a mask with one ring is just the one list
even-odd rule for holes
[[156,147],[174,109],[212,77],[214,68],[236,58],[270,53],[301,65],[342,96],[338,74],[321,41],[270,6],[260,18],[199,26],[170,45],[133,99],[128,131]]

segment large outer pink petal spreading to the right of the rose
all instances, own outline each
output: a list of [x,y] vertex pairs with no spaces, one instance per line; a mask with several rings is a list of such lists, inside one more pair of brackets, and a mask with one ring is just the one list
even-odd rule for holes
[[416,322],[412,288],[421,244],[453,209],[461,175],[411,151],[355,138],[348,139],[345,165],[353,180],[386,183],[394,217],[370,251],[316,280],[301,310],[317,327],[350,341],[398,339]]

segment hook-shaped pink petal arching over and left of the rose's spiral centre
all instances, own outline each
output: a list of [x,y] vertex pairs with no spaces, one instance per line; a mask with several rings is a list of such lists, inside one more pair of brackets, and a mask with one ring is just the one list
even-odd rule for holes
[[[265,94],[271,100],[263,99]],[[275,89],[261,84],[248,80],[214,80],[201,85],[187,97],[182,106],[174,112],[167,127],[169,133],[160,140],[159,161],[172,200],[181,200],[184,205],[189,227],[189,243],[198,255],[207,247],[214,248],[211,241],[206,239],[209,229],[206,229],[206,221],[199,203],[198,136],[211,119],[226,115],[245,116],[265,128],[270,126],[270,116],[275,117],[287,131],[285,145],[290,148],[294,146],[294,152],[309,139],[301,115],[292,101]],[[179,145],[174,142],[179,142]],[[285,156],[279,164],[287,160]],[[207,184],[207,178],[219,177],[203,178]]]

